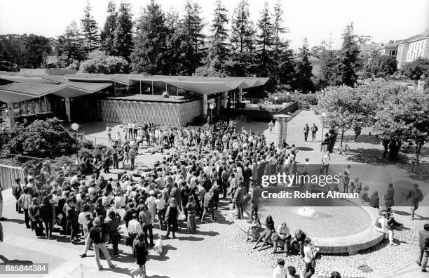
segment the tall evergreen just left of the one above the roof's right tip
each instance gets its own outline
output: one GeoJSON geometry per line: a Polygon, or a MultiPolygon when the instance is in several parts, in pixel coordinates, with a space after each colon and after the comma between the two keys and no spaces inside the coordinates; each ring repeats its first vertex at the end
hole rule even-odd
{"type": "Polygon", "coordinates": [[[228,65],[230,76],[245,77],[250,74],[254,58],[254,34],[249,2],[240,0],[234,9],[231,24],[231,59],[228,65]]]}

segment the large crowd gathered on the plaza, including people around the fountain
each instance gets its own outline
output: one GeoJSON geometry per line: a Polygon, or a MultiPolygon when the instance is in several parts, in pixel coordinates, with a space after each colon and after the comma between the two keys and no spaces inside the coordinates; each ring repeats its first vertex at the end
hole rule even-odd
{"type": "MultiPolygon", "coordinates": [[[[304,132],[310,130],[317,132],[317,126],[304,132]]],[[[306,233],[297,230],[292,236],[285,222],[275,230],[271,216],[266,218],[263,228],[258,216],[262,176],[282,171],[295,173],[297,147],[289,147],[285,141],[278,146],[267,144],[264,134],[245,128],[237,130],[233,121],[189,128],[124,124],[123,133],[124,140],[120,132],[111,135],[111,127],[107,126],[111,147],[103,148],[95,157],[79,157],[81,171],[93,169],[89,179],[78,176],[68,164],[55,171],[49,159],[24,168],[25,180],[16,180],[13,194],[17,199],[16,211],[24,213],[27,228],[47,239],[52,239],[56,230],[67,235],[73,244],[83,243],[82,258],[92,246],[97,265],[102,269],[103,257],[109,267],[115,266],[111,256],[118,256],[118,243],[124,238],[119,230],[125,223],[125,244],[132,246],[137,263],[132,275],[144,275],[148,249],[156,245],[154,227],[160,233],[165,232],[158,239],[167,240],[170,235],[175,238],[183,219],[187,232],[198,233],[197,220],[200,224],[207,219],[215,221],[214,211],[219,199],[224,199],[236,209],[238,219],[244,217],[244,207],[250,206],[247,237],[256,241],[254,249],[262,242],[259,250],[273,244],[273,253],[278,252],[278,247],[283,248],[285,256],[297,252],[304,258],[306,277],[315,273],[318,249],[306,233]],[[132,170],[141,145],[165,155],[136,177],[132,170]],[[111,167],[131,171],[127,170],[118,180],[104,178],[102,171],[109,173],[111,167]],[[106,242],[112,246],[111,253],[106,242]]],[[[314,140],[315,134],[312,135],[314,140]]],[[[327,151],[322,158],[322,171],[328,171],[329,159],[327,151]]],[[[308,159],[305,160],[308,170],[308,159]]],[[[362,187],[357,177],[350,179],[350,174],[347,166],[342,176],[343,191],[363,192],[362,200],[379,206],[379,201],[367,196],[368,187],[362,187]]],[[[400,223],[391,216],[393,204],[389,201],[394,193],[389,190],[390,186],[388,197],[385,196],[386,209],[381,210],[381,218],[375,225],[394,244],[390,231],[400,223]]],[[[415,196],[419,196],[417,191],[410,192],[413,201],[415,196]]],[[[418,202],[414,211],[417,207],[418,202]]],[[[288,267],[288,272],[294,277],[292,268],[288,267]]]]}

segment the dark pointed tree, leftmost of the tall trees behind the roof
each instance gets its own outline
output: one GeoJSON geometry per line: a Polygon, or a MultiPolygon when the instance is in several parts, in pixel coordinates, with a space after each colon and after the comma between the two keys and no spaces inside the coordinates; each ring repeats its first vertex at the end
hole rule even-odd
{"type": "Polygon", "coordinates": [[[57,58],[62,67],[67,67],[74,60],[81,61],[86,57],[82,38],[76,22],[72,21],[60,37],[56,47],[57,58]]]}

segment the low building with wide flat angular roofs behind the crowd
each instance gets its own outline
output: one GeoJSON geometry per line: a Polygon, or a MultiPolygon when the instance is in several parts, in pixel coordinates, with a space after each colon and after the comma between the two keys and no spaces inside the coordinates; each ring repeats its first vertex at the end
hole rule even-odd
{"type": "Polygon", "coordinates": [[[0,72],[0,102],[15,117],[53,112],[67,121],[135,121],[186,126],[243,100],[267,77],[145,76],[74,72],[0,72]]]}

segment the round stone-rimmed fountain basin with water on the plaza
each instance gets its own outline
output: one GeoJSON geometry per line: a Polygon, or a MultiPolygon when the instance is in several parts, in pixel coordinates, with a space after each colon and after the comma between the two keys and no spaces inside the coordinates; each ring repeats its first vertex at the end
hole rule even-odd
{"type": "Polygon", "coordinates": [[[298,229],[306,232],[320,253],[350,253],[378,244],[383,234],[376,232],[377,209],[360,206],[355,199],[341,199],[342,206],[261,206],[264,223],[271,215],[275,229],[285,221],[292,236],[298,229]]]}

